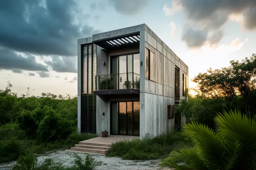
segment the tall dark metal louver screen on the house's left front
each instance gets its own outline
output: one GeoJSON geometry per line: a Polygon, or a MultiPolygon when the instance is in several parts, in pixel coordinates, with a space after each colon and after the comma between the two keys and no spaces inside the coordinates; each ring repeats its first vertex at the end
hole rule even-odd
{"type": "Polygon", "coordinates": [[[81,133],[97,133],[96,90],[97,46],[81,45],[81,133]]]}

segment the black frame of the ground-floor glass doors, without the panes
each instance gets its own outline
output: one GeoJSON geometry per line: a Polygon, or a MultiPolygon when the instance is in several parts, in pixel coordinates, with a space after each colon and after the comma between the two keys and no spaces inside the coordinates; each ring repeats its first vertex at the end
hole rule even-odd
{"type": "MultiPolygon", "coordinates": [[[[126,134],[125,136],[139,136],[139,135],[134,135],[134,102],[139,102],[139,100],[133,100],[133,101],[112,101],[110,102],[110,124],[112,125],[112,103],[117,103],[117,110],[118,110],[118,119],[117,119],[117,125],[118,125],[118,134],[113,134],[112,133],[112,126],[110,125],[110,135],[124,135],[124,134],[120,134],[120,122],[119,122],[119,115],[120,115],[120,112],[119,112],[119,102],[125,102],[126,103],[126,113],[125,113],[125,121],[126,121],[126,134]],[[132,102],[132,135],[128,135],[128,123],[127,123],[127,102],[132,102]]],[[[140,123],[140,121],[139,121],[140,123]]]]}

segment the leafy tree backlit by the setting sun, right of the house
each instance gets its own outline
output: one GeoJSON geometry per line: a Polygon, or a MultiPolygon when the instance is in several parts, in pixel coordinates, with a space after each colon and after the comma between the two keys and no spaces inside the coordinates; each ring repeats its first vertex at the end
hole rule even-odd
{"type": "Polygon", "coordinates": [[[251,116],[255,114],[256,103],[256,55],[245,58],[241,62],[230,61],[231,66],[221,69],[207,70],[199,73],[192,81],[197,83],[198,96],[225,97],[230,109],[235,103],[239,107],[237,98],[245,100],[245,112],[251,116]]]}

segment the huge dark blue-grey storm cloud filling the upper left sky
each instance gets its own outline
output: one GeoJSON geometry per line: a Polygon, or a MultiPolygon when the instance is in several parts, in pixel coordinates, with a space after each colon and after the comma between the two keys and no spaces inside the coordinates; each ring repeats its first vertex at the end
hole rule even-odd
{"type": "Polygon", "coordinates": [[[46,0],[45,7],[42,2],[0,1],[1,46],[39,55],[75,56],[80,28],[84,26],[84,35],[91,35],[94,28],[73,23],[77,14],[82,15],[74,0],[46,0]]]}

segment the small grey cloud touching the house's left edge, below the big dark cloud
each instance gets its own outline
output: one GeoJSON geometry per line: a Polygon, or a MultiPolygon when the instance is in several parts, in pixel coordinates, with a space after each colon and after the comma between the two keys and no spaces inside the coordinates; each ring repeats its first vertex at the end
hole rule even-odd
{"type": "Polygon", "coordinates": [[[52,61],[45,61],[56,72],[77,73],[75,57],[58,57],[53,56],[52,61]]]}

